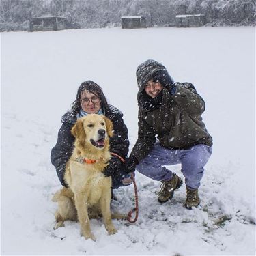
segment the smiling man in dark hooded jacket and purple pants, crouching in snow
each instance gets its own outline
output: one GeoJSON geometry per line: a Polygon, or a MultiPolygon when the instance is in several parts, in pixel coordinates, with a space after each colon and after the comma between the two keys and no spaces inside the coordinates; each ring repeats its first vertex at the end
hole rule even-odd
{"type": "Polygon", "coordinates": [[[205,102],[191,83],[174,83],[165,66],[152,59],[139,65],[136,75],[139,130],[126,171],[137,169],[160,181],[158,201],[164,203],[182,186],[182,179],[165,165],[181,164],[185,206],[197,206],[204,166],[212,154],[212,137],[201,117],[205,102]]]}

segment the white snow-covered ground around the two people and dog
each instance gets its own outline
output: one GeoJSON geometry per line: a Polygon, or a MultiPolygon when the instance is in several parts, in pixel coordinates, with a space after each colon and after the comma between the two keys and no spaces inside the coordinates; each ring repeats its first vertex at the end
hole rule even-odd
{"type": "MultiPolygon", "coordinates": [[[[180,166],[171,167],[178,175],[180,166]]],[[[128,212],[132,186],[112,207],[128,212]]],[[[81,29],[1,33],[1,255],[255,255],[255,28],[81,29]],[[61,188],[50,152],[60,117],[86,80],[102,86],[124,113],[130,149],[137,139],[135,70],[163,63],[175,81],[193,83],[206,102],[214,138],[199,194],[184,208],[185,186],[160,204],[159,182],[137,173],[139,219],[114,221],[108,236],[91,221],[53,230],[61,188]]]]}

